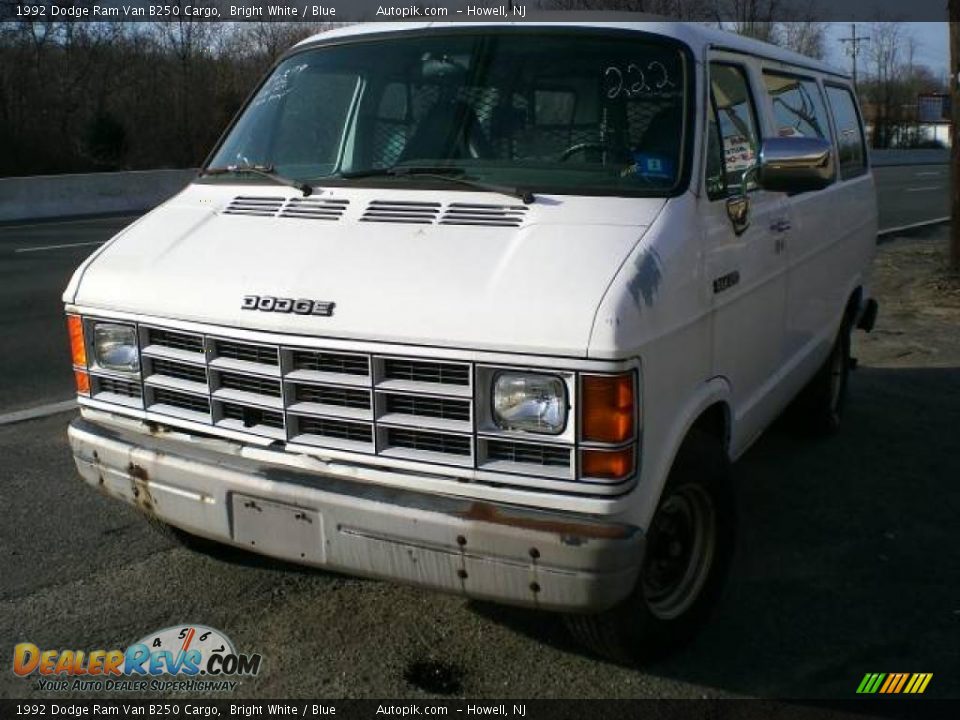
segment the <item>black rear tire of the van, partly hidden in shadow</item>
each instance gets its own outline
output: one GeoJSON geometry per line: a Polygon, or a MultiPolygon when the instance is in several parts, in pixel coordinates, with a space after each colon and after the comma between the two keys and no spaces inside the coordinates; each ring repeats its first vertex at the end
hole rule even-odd
{"type": "Polygon", "coordinates": [[[849,317],[844,318],[830,355],[797,396],[794,404],[797,424],[813,435],[832,435],[840,429],[852,367],[851,325],[849,317]]]}

